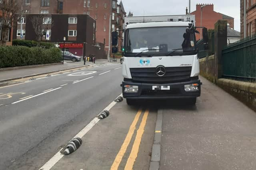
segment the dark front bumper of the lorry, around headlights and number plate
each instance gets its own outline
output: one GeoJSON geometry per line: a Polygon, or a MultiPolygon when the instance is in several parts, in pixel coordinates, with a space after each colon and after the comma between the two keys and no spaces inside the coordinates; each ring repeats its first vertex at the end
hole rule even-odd
{"type": "Polygon", "coordinates": [[[152,83],[134,83],[131,81],[123,81],[122,92],[126,99],[171,99],[171,98],[195,98],[201,95],[200,80],[191,80],[188,82],[168,83],[168,84],[152,84],[152,83]],[[197,92],[186,92],[184,85],[199,84],[197,92]],[[124,92],[124,85],[138,86],[137,93],[124,92]],[[152,86],[170,86],[170,90],[152,90],[152,86]]]}

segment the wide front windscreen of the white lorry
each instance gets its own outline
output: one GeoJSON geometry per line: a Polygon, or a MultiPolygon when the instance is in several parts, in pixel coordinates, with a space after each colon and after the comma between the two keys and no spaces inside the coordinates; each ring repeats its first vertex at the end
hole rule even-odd
{"type": "Polygon", "coordinates": [[[188,55],[195,53],[195,35],[187,27],[147,27],[126,30],[125,53],[140,55],[188,55]]]}

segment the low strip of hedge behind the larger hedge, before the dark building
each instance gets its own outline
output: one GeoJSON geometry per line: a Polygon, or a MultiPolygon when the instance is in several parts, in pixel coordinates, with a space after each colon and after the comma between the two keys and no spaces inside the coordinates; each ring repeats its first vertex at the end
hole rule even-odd
{"type": "Polygon", "coordinates": [[[55,47],[53,43],[48,42],[40,42],[38,45],[38,42],[36,41],[30,41],[30,40],[24,40],[24,39],[14,39],[12,40],[12,45],[20,45],[20,46],[26,46],[26,47],[41,47],[45,49],[50,49],[52,47],[55,47]]]}

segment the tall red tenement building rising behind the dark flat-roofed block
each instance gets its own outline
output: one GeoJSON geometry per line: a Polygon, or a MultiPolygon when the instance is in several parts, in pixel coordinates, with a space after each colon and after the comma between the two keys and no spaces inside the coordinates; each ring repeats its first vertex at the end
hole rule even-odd
{"type": "MultiPolygon", "coordinates": [[[[122,29],[126,12],[117,0],[18,0],[29,14],[88,14],[96,20],[95,40],[105,43],[108,53],[109,32],[122,29]],[[111,23],[110,23],[111,19],[111,23]],[[110,30],[112,29],[112,30],[110,30]]],[[[19,27],[19,25],[18,25],[19,27]]],[[[16,33],[15,33],[16,34],[16,33]]],[[[122,31],[119,33],[119,50],[122,46],[122,31]]],[[[110,36],[111,37],[111,36],[110,36]]],[[[111,42],[111,41],[110,41],[111,42]]],[[[111,48],[110,48],[111,49],[111,48]]]]}

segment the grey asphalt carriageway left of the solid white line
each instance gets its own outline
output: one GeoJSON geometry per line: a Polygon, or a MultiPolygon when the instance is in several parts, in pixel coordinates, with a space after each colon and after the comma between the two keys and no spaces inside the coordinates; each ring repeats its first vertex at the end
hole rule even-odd
{"type": "Polygon", "coordinates": [[[120,66],[94,65],[0,88],[0,169],[40,168],[121,94],[120,66]]]}

